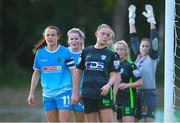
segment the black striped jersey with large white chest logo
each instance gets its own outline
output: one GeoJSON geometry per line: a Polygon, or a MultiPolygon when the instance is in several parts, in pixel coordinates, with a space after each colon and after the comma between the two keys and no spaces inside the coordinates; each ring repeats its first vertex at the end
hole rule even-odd
{"type": "Polygon", "coordinates": [[[118,72],[119,65],[118,54],[107,47],[83,49],[77,65],[78,69],[84,70],[82,98],[100,98],[102,86],[109,81],[109,73],[118,72]]]}

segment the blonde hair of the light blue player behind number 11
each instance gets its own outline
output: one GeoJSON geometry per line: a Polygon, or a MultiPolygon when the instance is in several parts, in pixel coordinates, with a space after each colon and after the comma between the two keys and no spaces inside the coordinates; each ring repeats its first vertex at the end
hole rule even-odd
{"type": "Polygon", "coordinates": [[[83,40],[83,42],[81,43],[81,49],[84,48],[84,41],[85,41],[85,35],[84,33],[79,29],[79,28],[72,28],[67,32],[67,35],[69,36],[70,33],[77,33],[80,37],[80,39],[83,40]]]}

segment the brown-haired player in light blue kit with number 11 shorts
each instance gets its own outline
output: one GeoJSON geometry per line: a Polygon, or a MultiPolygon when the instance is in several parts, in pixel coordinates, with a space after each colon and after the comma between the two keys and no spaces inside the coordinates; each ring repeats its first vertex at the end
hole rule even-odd
{"type": "Polygon", "coordinates": [[[41,80],[43,91],[44,111],[48,122],[69,122],[72,105],[77,103],[79,83],[76,80],[75,63],[70,52],[62,45],[58,45],[59,29],[48,26],[33,49],[36,51],[34,72],[31,79],[31,88],[28,104],[35,105],[35,89],[41,80]],[[44,42],[46,46],[39,48],[44,42]],[[72,74],[73,86],[69,71],[72,74]]]}

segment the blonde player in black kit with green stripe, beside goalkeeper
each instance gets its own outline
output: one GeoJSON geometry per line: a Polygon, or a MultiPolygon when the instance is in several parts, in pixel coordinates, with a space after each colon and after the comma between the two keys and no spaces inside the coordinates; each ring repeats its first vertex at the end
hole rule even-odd
{"type": "Polygon", "coordinates": [[[116,94],[117,119],[123,122],[134,122],[136,87],[142,86],[140,73],[130,60],[129,48],[124,40],[114,44],[119,54],[121,82],[116,94]]]}

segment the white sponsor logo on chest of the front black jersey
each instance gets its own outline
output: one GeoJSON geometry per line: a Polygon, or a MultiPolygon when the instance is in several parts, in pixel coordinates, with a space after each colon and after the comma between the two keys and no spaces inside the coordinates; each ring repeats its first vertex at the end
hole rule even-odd
{"type": "Polygon", "coordinates": [[[85,63],[86,70],[98,70],[103,71],[104,63],[102,62],[95,62],[95,61],[87,61],[85,63]]]}

